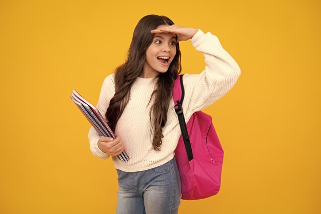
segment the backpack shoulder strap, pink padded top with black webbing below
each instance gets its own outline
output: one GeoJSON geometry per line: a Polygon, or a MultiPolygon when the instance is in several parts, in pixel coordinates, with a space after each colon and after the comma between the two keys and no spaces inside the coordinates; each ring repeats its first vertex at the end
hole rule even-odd
{"type": "Polygon", "coordinates": [[[174,108],[175,112],[178,116],[180,131],[182,131],[182,136],[185,144],[185,149],[188,157],[188,161],[193,159],[193,152],[191,147],[191,142],[189,139],[189,135],[186,128],[186,122],[183,114],[182,104],[184,101],[184,85],[183,85],[183,75],[177,75],[176,80],[174,81],[174,88],[173,88],[173,100],[174,100],[174,108]]]}

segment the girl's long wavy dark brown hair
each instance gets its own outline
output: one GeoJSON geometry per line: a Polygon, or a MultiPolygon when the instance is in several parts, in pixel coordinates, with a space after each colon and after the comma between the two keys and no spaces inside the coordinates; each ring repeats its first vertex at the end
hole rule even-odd
{"type": "MultiPolygon", "coordinates": [[[[127,59],[124,64],[119,65],[115,69],[115,94],[110,100],[109,107],[106,111],[106,119],[110,128],[115,131],[118,119],[123,114],[123,111],[130,99],[130,89],[135,79],[141,72],[146,60],[146,50],[151,45],[154,34],[150,31],[156,29],[159,25],[173,25],[174,23],[163,15],[147,15],[139,20],[136,25],[132,37],[132,41],[127,51],[127,59]]],[[[177,41],[177,36],[176,36],[177,41]]],[[[154,103],[150,108],[149,116],[151,121],[151,113],[154,116],[154,133],[153,134],[153,149],[160,150],[162,145],[163,127],[167,121],[167,111],[169,102],[172,102],[174,80],[182,70],[180,65],[180,50],[179,44],[176,42],[176,55],[171,62],[168,70],[165,73],[159,73],[157,83],[153,91],[149,103],[154,96],[154,103]]]]}

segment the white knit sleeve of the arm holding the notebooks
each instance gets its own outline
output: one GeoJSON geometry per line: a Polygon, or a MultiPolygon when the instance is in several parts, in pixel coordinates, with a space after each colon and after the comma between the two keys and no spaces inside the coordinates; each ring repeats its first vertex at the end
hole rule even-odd
{"type": "MultiPolygon", "coordinates": [[[[101,112],[105,120],[106,120],[105,113],[109,106],[109,101],[111,100],[111,98],[115,93],[115,85],[112,77],[113,77],[113,74],[110,74],[105,78],[101,88],[101,93],[99,94],[98,103],[96,105],[96,108],[98,109],[99,112],[101,112]]],[[[98,140],[100,138],[100,135],[92,126],[89,129],[88,138],[89,138],[90,150],[92,154],[95,157],[101,158],[102,160],[108,159],[110,155],[103,152],[98,147],[98,140]]]]}

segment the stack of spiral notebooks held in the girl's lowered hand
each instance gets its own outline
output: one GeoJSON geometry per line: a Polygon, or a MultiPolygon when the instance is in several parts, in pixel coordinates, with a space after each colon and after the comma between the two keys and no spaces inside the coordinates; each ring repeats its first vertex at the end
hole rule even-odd
{"type": "MultiPolygon", "coordinates": [[[[79,108],[79,110],[81,110],[81,112],[86,116],[87,120],[98,133],[104,135],[105,137],[116,139],[106,120],[94,105],[85,100],[76,90],[72,90],[70,98],[79,108]]],[[[118,158],[125,162],[128,162],[129,160],[125,150],[118,154],[118,158]]]]}

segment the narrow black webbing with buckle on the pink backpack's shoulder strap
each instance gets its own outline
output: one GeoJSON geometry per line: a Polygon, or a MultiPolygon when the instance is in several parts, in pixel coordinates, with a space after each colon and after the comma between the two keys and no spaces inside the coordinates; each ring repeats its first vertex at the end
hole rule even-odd
{"type": "Polygon", "coordinates": [[[185,122],[183,108],[182,108],[182,104],[184,101],[184,95],[185,95],[184,85],[183,85],[183,75],[184,74],[179,75],[180,76],[180,87],[182,88],[182,97],[180,98],[180,101],[176,102],[177,104],[175,105],[175,107],[177,106],[177,108],[175,108],[175,112],[177,113],[180,130],[182,131],[188,161],[191,161],[193,159],[193,152],[192,152],[191,142],[190,142],[189,135],[187,132],[186,122],[185,122]]]}

